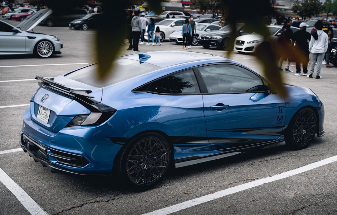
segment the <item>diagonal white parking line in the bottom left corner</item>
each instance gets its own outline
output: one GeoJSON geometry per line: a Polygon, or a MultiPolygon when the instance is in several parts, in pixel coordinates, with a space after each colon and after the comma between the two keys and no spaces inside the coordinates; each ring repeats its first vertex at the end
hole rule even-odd
{"type": "Polygon", "coordinates": [[[31,214],[47,215],[43,209],[32,199],[28,194],[15,183],[1,168],[0,168],[0,181],[11,191],[19,202],[31,214]]]}

